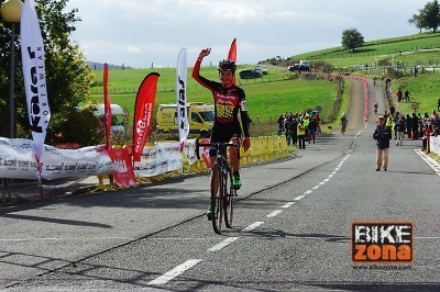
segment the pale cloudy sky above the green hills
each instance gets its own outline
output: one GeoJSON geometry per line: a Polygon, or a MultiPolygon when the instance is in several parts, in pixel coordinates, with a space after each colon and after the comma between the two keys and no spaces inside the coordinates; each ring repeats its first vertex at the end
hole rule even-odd
{"type": "Polygon", "coordinates": [[[237,37],[238,64],[341,45],[356,29],[364,41],[417,34],[408,20],[428,0],[69,0],[78,9],[72,40],[89,61],[134,68],[188,66],[210,47],[205,64],[227,58],[237,37]]]}

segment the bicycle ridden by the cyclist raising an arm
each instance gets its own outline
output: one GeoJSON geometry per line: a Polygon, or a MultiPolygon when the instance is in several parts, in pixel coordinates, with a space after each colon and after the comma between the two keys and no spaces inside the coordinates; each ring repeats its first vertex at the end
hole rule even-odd
{"type": "Polygon", "coordinates": [[[221,234],[223,218],[227,228],[232,228],[233,203],[237,190],[232,188],[232,170],[227,160],[228,147],[237,147],[238,158],[240,159],[239,143],[199,143],[196,139],[196,156],[200,159],[200,147],[216,149],[217,158],[211,166],[211,221],[212,228],[217,234],[221,234]]]}

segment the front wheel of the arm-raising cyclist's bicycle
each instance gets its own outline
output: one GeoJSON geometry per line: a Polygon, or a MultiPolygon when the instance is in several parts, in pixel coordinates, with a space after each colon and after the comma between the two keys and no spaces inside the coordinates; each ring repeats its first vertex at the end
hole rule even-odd
{"type": "Polygon", "coordinates": [[[211,175],[211,212],[212,228],[215,233],[221,234],[221,224],[223,221],[223,181],[220,166],[216,162],[211,175]]]}

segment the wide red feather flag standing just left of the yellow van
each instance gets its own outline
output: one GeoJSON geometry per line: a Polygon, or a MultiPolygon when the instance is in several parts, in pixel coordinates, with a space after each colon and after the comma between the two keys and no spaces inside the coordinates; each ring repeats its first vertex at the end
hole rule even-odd
{"type": "Polygon", "coordinates": [[[141,161],[142,150],[150,134],[160,76],[157,72],[148,74],[138,91],[133,121],[133,161],[141,161]]]}

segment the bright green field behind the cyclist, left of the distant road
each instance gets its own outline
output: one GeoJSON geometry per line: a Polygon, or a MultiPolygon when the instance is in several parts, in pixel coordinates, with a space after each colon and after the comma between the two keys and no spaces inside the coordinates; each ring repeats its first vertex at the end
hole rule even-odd
{"type": "MultiPolygon", "coordinates": [[[[242,66],[244,67],[244,66],[242,66]]],[[[252,66],[245,66],[252,67],[252,66]]],[[[175,69],[125,69],[110,71],[110,92],[114,88],[135,88],[151,71],[161,74],[158,79],[155,108],[163,103],[175,103],[175,69]]],[[[201,74],[209,79],[218,80],[216,67],[204,67],[201,74]]],[[[101,91],[102,71],[96,72],[96,89],[101,91]],[[99,78],[101,76],[101,78],[99,78]]],[[[317,79],[308,80],[295,74],[280,69],[271,69],[264,78],[238,79],[238,85],[246,93],[248,109],[254,123],[274,122],[284,112],[304,112],[307,109],[315,109],[320,105],[322,109],[331,109],[337,96],[334,80],[317,79]]],[[[117,91],[118,92],[118,91],[117,91]]],[[[111,93],[112,103],[127,108],[130,113],[134,111],[135,93],[111,93]]],[[[212,96],[209,90],[199,86],[190,77],[188,71],[187,87],[188,102],[212,103],[212,96]]],[[[102,93],[92,94],[92,100],[102,101],[102,93]]],[[[328,119],[329,112],[323,112],[322,117],[328,119]]],[[[131,121],[132,122],[132,121],[131,121]]]]}

